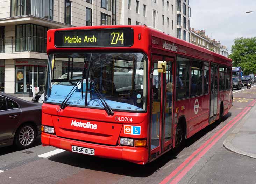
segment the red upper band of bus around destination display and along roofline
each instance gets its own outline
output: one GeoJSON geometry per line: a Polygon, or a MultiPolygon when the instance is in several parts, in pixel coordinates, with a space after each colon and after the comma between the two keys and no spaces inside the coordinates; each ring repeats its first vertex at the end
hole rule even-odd
{"type": "MultiPolygon", "coordinates": [[[[85,35],[85,34],[84,34],[85,35]]],[[[73,38],[74,34],[69,38],[73,38]],[[72,36],[72,37],[71,37],[72,36]]],[[[65,37],[67,38],[67,37],[65,37]]],[[[79,37],[76,37],[77,39],[79,37]]],[[[117,38],[117,37],[115,37],[117,38]]],[[[59,40],[59,39],[58,39],[59,40]]],[[[63,38],[64,40],[64,38],[63,38]]],[[[84,38],[81,38],[81,40],[84,40],[84,38]]],[[[113,39],[114,40],[114,39],[113,39]]],[[[113,42],[112,40],[112,42],[113,42]]],[[[101,41],[101,40],[100,40],[101,41]]],[[[99,42],[100,42],[99,41],[99,42]]],[[[111,40],[109,39],[109,42],[111,40]]],[[[115,41],[115,40],[114,40],[115,41]]],[[[73,43],[72,43],[73,44],[73,43]]],[[[73,44],[74,45],[74,44],[73,44]]],[[[223,63],[226,65],[231,66],[232,65],[232,59],[226,58],[225,56],[222,56],[218,53],[212,52],[208,49],[205,49],[203,47],[194,45],[192,43],[189,43],[187,41],[181,40],[179,38],[173,37],[171,35],[168,35],[166,33],[163,33],[155,28],[151,28],[148,26],[144,25],[109,25],[109,26],[84,26],[84,27],[73,27],[73,28],[61,28],[61,29],[51,29],[48,30],[47,32],[47,53],[51,52],[58,52],[58,51],[71,51],[76,52],[78,51],[85,51],[85,50],[90,50],[90,51],[95,51],[95,50],[111,50],[113,51],[113,47],[115,51],[124,51],[124,50],[134,50],[134,51],[143,51],[147,53],[148,55],[150,54],[150,49],[153,51],[154,49],[162,50],[164,53],[168,51],[168,53],[173,53],[173,54],[179,54],[179,55],[186,55],[186,56],[191,56],[195,57],[198,59],[205,59],[205,60],[210,60],[218,63],[223,63]],[[71,47],[56,47],[55,44],[55,32],[71,32],[71,31],[77,31],[81,32],[79,35],[83,35],[83,31],[90,31],[90,30],[110,30],[109,32],[109,38],[111,33],[113,33],[115,30],[122,30],[123,29],[128,29],[131,28],[133,30],[133,44],[130,46],[112,46],[109,43],[109,46],[71,46],[71,47]],[[111,32],[112,30],[112,32],[111,32]]]]}

